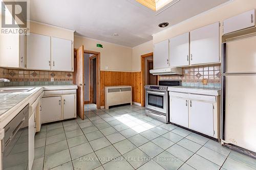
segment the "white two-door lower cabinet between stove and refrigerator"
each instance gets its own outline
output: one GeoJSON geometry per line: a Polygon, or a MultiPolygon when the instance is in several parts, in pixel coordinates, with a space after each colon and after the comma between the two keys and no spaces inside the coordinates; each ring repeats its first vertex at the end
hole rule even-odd
{"type": "Polygon", "coordinates": [[[170,122],[219,138],[216,96],[169,92],[170,122]]]}

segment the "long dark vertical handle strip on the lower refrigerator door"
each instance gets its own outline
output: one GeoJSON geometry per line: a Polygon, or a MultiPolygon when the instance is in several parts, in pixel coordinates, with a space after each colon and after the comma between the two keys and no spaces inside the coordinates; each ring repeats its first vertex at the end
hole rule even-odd
{"type": "Polygon", "coordinates": [[[221,139],[225,140],[225,110],[226,110],[226,77],[222,76],[221,83],[221,139]]]}

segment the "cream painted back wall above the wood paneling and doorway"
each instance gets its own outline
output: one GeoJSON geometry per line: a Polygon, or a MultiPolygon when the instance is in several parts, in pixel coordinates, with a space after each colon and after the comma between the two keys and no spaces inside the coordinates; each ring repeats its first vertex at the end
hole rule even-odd
{"type": "Polygon", "coordinates": [[[96,39],[74,36],[74,47],[84,45],[84,50],[100,52],[100,70],[132,71],[133,48],[96,39]],[[97,47],[100,43],[103,48],[97,47]]]}

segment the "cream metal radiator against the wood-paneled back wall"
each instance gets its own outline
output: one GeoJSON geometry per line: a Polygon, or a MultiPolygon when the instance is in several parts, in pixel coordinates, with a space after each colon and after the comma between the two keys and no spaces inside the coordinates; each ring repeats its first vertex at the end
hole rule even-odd
{"type": "Polygon", "coordinates": [[[126,103],[132,105],[132,86],[105,87],[105,109],[126,103]]]}

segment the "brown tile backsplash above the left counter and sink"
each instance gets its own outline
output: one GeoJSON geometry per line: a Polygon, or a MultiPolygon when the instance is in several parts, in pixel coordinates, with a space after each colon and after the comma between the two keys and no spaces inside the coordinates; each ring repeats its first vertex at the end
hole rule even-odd
{"type": "Polygon", "coordinates": [[[0,78],[11,82],[0,82],[0,86],[62,85],[73,84],[73,72],[17,70],[0,67],[0,78]],[[54,78],[54,82],[51,82],[54,78]]]}

